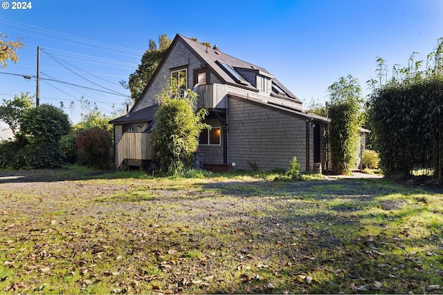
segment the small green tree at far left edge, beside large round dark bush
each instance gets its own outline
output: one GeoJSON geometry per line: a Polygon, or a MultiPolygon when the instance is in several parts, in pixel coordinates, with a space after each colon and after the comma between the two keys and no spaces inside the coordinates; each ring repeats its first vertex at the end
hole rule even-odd
{"type": "Polygon", "coordinates": [[[3,105],[0,106],[0,120],[9,125],[16,138],[24,113],[33,106],[34,102],[29,93],[21,93],[20,97],[15,95],[14,99],[3,99],[3,105]]]}

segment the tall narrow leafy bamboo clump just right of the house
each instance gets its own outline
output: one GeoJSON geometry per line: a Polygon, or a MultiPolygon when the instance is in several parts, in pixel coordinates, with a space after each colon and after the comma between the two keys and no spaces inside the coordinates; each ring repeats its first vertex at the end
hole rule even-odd
{"type": "Polygon", "coordinates": [[[349,174],[356,164],[361,127],[361,87],[351,75],[341,77],[328,88],[329,92],[329,141],[331,144],[332,170],[349,174]]]}

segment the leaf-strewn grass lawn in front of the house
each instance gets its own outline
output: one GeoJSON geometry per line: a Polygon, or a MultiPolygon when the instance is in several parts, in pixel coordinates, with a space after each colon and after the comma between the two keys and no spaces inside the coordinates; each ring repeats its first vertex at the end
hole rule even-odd
{"type": "Polygon", "coordinates": [[[442,188],[274,178],[0,173],[0,292],[443,292],[442,188]]]}

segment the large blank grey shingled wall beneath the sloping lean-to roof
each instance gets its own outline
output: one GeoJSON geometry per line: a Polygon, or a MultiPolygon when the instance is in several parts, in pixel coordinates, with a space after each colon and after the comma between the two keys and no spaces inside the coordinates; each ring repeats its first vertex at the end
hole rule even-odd
{"type": "Polygon", "coordinates": [[[294,155],[306,169],[306,122],[257,106],[246,100],[228,99],[228,163],[233,169],[287,169],[294,155]]]}

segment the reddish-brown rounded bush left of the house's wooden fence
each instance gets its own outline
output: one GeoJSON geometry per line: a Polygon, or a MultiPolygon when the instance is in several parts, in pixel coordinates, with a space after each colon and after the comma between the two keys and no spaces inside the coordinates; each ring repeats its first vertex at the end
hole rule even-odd
{"type": "Polygon", "coordinates": [[[95,169],[111,168],[112,137],[98,127],[84,129],[75,137],[78,148],[78,164],[95,169]]]}

